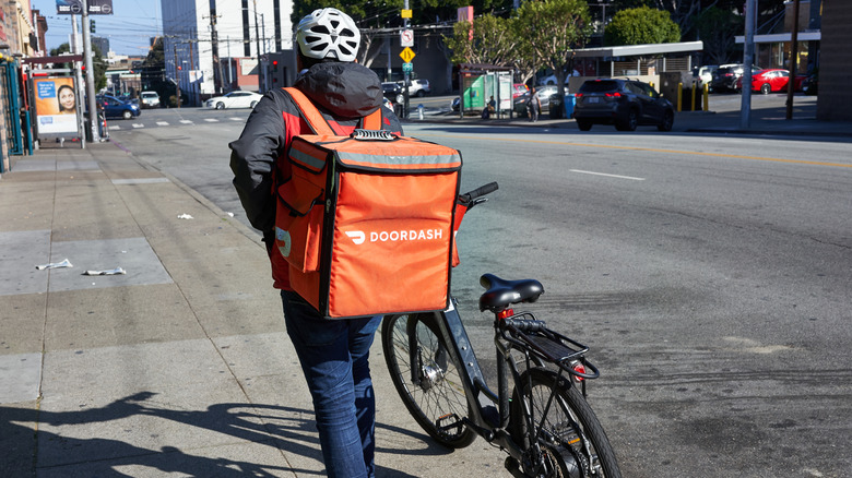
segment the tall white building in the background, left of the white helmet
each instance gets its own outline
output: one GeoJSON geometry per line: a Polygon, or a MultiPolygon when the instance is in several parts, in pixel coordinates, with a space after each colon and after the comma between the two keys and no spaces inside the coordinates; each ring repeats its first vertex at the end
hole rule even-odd
{"type": "Polygon", "coordinates": [[[270,55],[293,46],[292,11],[292,0],[162,2],[166,76],[191,105],[232,89],[265,92],[270,55]]]}

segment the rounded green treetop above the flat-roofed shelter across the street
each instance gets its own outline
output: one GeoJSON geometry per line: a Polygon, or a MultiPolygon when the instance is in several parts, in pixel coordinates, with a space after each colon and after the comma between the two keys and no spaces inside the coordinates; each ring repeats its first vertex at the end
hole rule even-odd
{"type": "Polygon", "coordinates": [[[622,10],[606,25],[604,45],[668,44],[681,40],[681,28],[668,12],[648,7],[622,10]]]}

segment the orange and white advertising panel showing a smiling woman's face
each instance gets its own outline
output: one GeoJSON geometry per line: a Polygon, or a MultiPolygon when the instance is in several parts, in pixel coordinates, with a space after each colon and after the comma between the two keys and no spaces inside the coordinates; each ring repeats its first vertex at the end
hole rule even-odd
{"type": "Polygon", "coordinates": [[[74,79],[34,79],[35,107],[39,134],[76,133],[74,79]]]}

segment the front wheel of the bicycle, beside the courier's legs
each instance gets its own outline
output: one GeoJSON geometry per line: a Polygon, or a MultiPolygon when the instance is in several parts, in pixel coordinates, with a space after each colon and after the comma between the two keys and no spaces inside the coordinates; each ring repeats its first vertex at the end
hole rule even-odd
{"type": "Polygon", "coordinates": [[[435,314],[386,315],[381,345],[393,386],[417,425],[443,446],[462,449],[473,443],[475,432],[461,421],[470,414],[464,386],[435,314]],[[419,368],[426,369],[423,384],[412,380],[412,338],[421,348],[424,366],[419,368]]]}

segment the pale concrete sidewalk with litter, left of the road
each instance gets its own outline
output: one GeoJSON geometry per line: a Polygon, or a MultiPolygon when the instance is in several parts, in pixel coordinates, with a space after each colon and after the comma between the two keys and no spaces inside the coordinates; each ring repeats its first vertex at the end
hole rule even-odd
{"type": "MultiPolygon", "coordinates": [[[[0,476],[322,475],[258,235],[111,143],[66,146],[0,180],[0,476]]],[[[378,475],[500,475],[483,440],[431,444],[379,342],[378,475]]]]}

